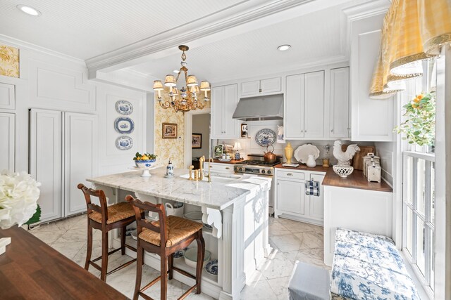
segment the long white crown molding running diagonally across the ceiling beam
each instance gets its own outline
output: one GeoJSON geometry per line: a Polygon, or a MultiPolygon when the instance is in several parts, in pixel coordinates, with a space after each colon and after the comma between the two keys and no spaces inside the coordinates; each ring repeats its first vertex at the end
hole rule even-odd
{"type": "MultiPolygon", "coordinates": [[[[118,70],[130,65],[142,63],[145,56],[164,51],[164,55],[171,55],[178,50],[175,46],[196,41],[202,37],[233,29],[248,22],[265,18],[276,13],[288,11],[292,8],[308,4],[313,0],[246,0],[235,6],[225,8],[223,11],[207,15],[202,19],[187,23],[180,27],[161,32],[147,39],[123,46],[108,53],[101,54],[86,60],[89,72],[95,70],[118,70]],[[257,4],[257,5],[256,5],[257,4]],[[172,51],[172,52],[171,52],[172,51]]],[[[327,1],[317,0],[324,6],[327,1]]],[[[339,2],[339,1],[338,1],[339,2]]],[[[330,4],[329,4],[330,5],[330,4]]],[[[312,5],[312,7],[314,7],[312,5]]],[[[316,5],[316,7],[320,7],[316,5]]],[[[295,18],[296,15],[292,15],[295,18]]],[[[278,20],[280,22],[280,20],[278,20]]]]}

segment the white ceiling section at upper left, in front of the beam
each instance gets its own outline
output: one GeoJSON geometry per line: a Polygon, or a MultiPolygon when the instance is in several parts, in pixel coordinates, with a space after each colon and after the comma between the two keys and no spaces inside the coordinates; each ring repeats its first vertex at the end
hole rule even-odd
{"type": "Polygon", "coordinates": [[[86,60],[240,2],[1,0],[0,34],[86,60]],[[42,15],[26,15],[16,8],[18,4],[32,6],[42,15]]]}

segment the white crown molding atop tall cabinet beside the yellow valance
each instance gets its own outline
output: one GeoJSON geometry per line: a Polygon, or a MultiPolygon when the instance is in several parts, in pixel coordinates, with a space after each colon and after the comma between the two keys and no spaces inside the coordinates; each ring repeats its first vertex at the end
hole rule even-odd
{"type": "Polygon", "coordinates": [[[365,4],[350,6],[342,10],[341,15],[341,34],[342,43],[341,50],[346,57],[350,57],[351,52],[351,24],[354,21],[371,18],[374,15],[385,14],[391,5],[390,0],[376,0],[365,4]]]}

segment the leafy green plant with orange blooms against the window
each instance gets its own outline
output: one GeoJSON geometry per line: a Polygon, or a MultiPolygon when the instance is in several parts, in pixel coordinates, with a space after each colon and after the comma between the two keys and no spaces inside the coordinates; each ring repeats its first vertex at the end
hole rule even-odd
{"type": "Polygon", "coordinates": [[[421,93],[403,106],[406,120],[396,126],[409,144],[433,145],[435,141],[435,93],[421,93]]]}

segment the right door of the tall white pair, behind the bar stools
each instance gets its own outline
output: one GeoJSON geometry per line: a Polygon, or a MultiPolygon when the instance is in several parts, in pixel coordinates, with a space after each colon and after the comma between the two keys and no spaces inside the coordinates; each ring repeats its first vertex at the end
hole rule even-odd
{"type": "Polygon", "coordinates": [[[97,116],[66,112],[64,115],[64,212],[86,211],[78,183],[97,175],[97,116]]]}

